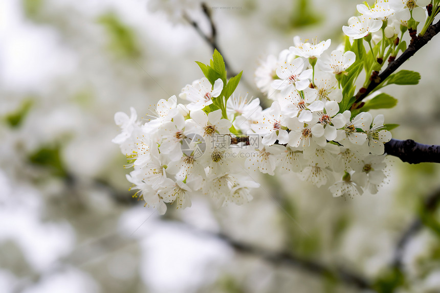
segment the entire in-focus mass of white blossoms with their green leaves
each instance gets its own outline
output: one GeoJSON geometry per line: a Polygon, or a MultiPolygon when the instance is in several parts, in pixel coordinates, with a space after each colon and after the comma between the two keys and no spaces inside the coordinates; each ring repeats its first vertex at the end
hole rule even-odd
{"type": "Polygon", "coordinates": [[[355,96],[357,80],[365,72],[361,92],[406,50],[404,34],[413,38],[423,21],[414,18],[418,12],[426,15],[420,34],[426,31],[438,13],[438,3],[435,9],[429,3],[358,5],[361,15],[342,28],[345,43],[335,50],[329,50],[330,39],[294,37],[294,46],[269,56],[255,72],[256,86],[273,100],[270,108],[235,93],[241,73],[228,80],[215,50],[209,64],[196,62],[204,77],[182,89],[179,98],[186,103],[176,96],[160,100],[146,123],[134,108],[130,116],[118,112],[115,121],[122,133],[113,141],[127,156],[127,167],[134,167],[127,179],[138,190],[135,196],[161,214],[165,203],[189,207],[195,193],[222,205],[243,204],[259,186],[255,173],[274,175],[275,169],[318,187],[327,184],[335,197],[376,193],[386,177],[384,143],[397,125],[384,124],[383,115],[372,117],[368,111],[397,103],[377,89],[416,84],[420,75],[392,74],[362,102],[355,96]]]}

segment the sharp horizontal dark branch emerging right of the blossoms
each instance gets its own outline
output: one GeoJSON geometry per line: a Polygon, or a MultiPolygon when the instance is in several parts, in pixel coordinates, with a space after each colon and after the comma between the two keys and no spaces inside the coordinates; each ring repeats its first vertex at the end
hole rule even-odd
{"type": "Polygon", "coordinates": [[[440,163],[440,146],[438,145],[425,145],[413,140],[391,139],[385,144],[385,152],[410,164],[440,163]]]}

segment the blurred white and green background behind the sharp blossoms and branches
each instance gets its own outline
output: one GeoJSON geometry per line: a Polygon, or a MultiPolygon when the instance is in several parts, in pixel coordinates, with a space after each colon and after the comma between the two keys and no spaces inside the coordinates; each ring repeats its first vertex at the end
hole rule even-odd
{"type": "MultiPolygon", "coordinates": [[[[264,98],[259,62],[295,35],[335,49],[358,3],[205,4],[244,70],[237,91],[264,98]]],[[[244,206],[199,197],[159,216],[131,198],[115,112],[146,114],[212,56],[183,11],[210,34],[195,0],[0,3],[0,292],[440,292],[435,164],[391,157],[380,192],[353,199],[281,173],[244,206]]],[[[382,111],[394,138],[440,144],[439,46],[403,65],[419,85],[384,89],[399,99],[382,111]]]]}

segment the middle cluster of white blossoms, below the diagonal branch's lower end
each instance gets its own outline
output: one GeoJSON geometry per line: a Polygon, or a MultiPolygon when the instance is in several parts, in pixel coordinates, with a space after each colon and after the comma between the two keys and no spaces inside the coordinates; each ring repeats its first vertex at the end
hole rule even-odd
{"type": "Polygon", "coordinates": [[[355,196],[362,189],[376,193],[385,179],[384,143],[391,139],[384,116],[373,119],[368,112],[360,112],[352,117],[339,107],[338,80],[355,62],[355,53],[339,47],[325,54],[330,40],[303,43],[295,37],[294,44],[289,54],[283,51],[272,62],[272,68],[266,63],[257,69],[259,88],[273,88],[272,106],[249,117],[246,127],[240,126],[245,125],[241,120],[233,122],[244,133],[261,136],[259,151],[274,158],[270,166],[252,165],[270,174],[279,165],[318,187],[339,178],[329,188],[334,196],[355,196]],[[268,74],[263,76],[263,71],[268,74]]]}

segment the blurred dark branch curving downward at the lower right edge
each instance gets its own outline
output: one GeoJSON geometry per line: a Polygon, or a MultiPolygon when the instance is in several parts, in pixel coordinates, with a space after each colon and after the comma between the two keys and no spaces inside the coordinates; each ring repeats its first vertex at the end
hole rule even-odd
{"type": "MultiPolygon", "coordinates": [[[[424,202],[424,212],[432,213],[440,202],[440,189],[433,192],[424,202]]],[[[394,250],[392,266],[402,270],[402,259],[405,247],[409,240],[423,228],[423,220],[420,217],[415,218],[409,227],[400,237],[394,250]]]]}

